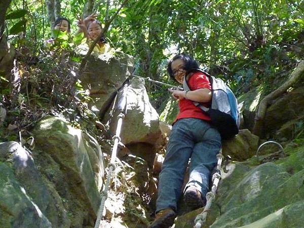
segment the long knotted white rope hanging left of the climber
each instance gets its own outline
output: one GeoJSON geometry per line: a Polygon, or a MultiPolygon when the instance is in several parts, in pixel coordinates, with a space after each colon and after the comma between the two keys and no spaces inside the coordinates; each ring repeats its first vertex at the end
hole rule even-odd
{"type": "Polygon", "coordinates": [[[116,155],[117,155],[117,148],[118,148],[118,144],[121,141],[120,134],[121,134],[122,124],[123,124],[123,119],[125,117],[124,113],[126,113],[126,109],[127,109],[127,88],[128,88],[128,82],[122,87],[122,89],[121,89],[122,96],[120,97],[119,102],[117,104],[117,109],[120,111],[120,113],[118,115],[116,133],[115,133],[115,136],[113,136],[114,145],[112,148],[111,160],[110,160],[110,163],[108,164],[108,169],[109,169],[108,177],[105,182],[104,190],[100,194],[101,200],[100,200],[100,205],[99,205],[99,209],[97,212],[97,219],[96,219],[95,226],[94,226],[95,228],[100,228],[100,222],[102,219],[104,203],[108,196],[108,190],[109,190],[109,186],[110,186],[110,183],[112,180],[113,171],[116,169],[115,161],[116,161],[116,155]]]}

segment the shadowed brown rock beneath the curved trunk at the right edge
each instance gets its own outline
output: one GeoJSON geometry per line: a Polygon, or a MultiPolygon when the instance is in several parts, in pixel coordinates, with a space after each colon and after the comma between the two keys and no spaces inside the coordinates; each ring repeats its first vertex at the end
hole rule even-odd
{"type": "Polygon", "coordinates": [[[297,133],[297,123],[304,120],[304,87],[285,94],[267,109],[264,130],[265,135],[277,135],[292,139],[297,133]]]}

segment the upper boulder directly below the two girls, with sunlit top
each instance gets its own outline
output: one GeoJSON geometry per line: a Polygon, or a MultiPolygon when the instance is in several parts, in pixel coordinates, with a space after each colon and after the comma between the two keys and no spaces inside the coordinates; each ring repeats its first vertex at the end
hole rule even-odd
{"type": "Polygon", "coordinates": [[[132,56],[122,52],[92,54],[80,78],[84,89],[88,89],[94,99],[89,105],[104,112],[132,73],[133,62],[132,56]]]}

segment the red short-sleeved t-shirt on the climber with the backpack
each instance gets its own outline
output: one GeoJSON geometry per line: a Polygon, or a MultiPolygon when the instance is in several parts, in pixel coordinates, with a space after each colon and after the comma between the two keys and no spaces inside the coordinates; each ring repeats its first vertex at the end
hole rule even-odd
{"type": "MultiPolygon", "coordinates": [[[[191,90],[197,89],[209,89],[211,90],[211,84],[209,78],[202,72],[195,72],[187,81],[188,87],[191,90]]],[[[209,107],[210,102],[202,103],[204,106],[209,107]]],[[[183,118],[197,118],[206,121],[210,121],[210,117],[202,111],[201,108],[194,105],[192,100],[181,99],[178,101],[179,113],[174,122],[183,118]]]]}

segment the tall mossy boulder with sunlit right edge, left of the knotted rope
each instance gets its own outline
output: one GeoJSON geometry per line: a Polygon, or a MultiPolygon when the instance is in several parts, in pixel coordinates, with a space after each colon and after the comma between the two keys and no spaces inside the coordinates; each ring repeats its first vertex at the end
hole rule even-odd
{"type": "Polygon", "coordinates": [[[104,161],[97,141],[67,121],[48,116],[32,131],[33,158],[70,213],[71,226],[94,226],[104,161]]]}

